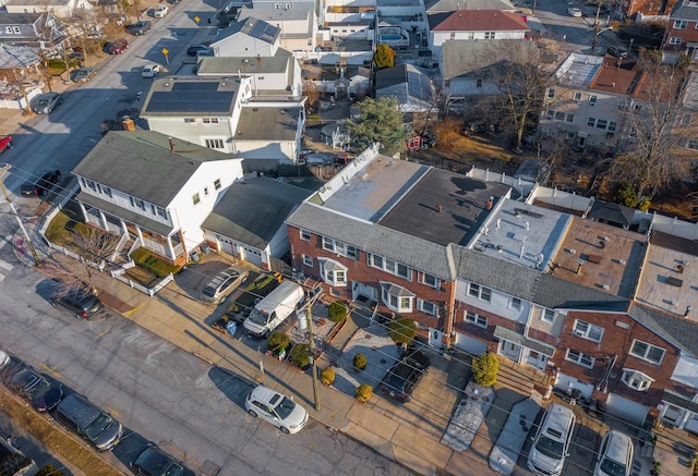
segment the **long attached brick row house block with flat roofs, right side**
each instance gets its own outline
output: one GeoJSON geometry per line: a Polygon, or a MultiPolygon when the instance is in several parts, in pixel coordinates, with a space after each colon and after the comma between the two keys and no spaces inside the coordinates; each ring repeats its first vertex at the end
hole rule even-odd
{"type": "Polygon", "coordinates": [[[337,298],[414,319],[434,346],[489,349],[634,423],[698,431],[690,288],[652,265],[698,253],[593,200],[582,218],[516,197],[369,150],[288,218],[292,266],[337,298]]]}

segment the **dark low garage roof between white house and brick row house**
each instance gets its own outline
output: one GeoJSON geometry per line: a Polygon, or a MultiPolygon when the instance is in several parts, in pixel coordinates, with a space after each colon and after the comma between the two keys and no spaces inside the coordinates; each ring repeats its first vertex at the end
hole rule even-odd
{"type": "Polygon", "coordinates": [[[286,217],[311,193],[266,178],[233,183],[202,228],[264,249],[286,217]]]}

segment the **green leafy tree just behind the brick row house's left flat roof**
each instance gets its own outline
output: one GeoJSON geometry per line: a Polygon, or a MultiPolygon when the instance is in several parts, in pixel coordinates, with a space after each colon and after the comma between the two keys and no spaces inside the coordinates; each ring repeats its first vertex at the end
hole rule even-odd
{"type": "Polygon", "coordinates": [[[383,152],[389,156],[405,150],[409,134],[405,130],[397,98],[382,98],[377,101],[366,98],[357,103],[357,107],[360,110],[359,118],[347,123],[357,150],[363,151],[374,143],[380,143],[383,152]]]}

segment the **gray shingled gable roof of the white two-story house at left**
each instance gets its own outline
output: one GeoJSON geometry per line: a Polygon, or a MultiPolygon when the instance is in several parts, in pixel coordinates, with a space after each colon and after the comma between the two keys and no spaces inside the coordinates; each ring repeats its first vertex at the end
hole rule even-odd
{"type": "Polygon", "coordinates": [[[152,131],[110,132],[73,173],[167,207],[202,162],[233,156],[152,131]]]}

